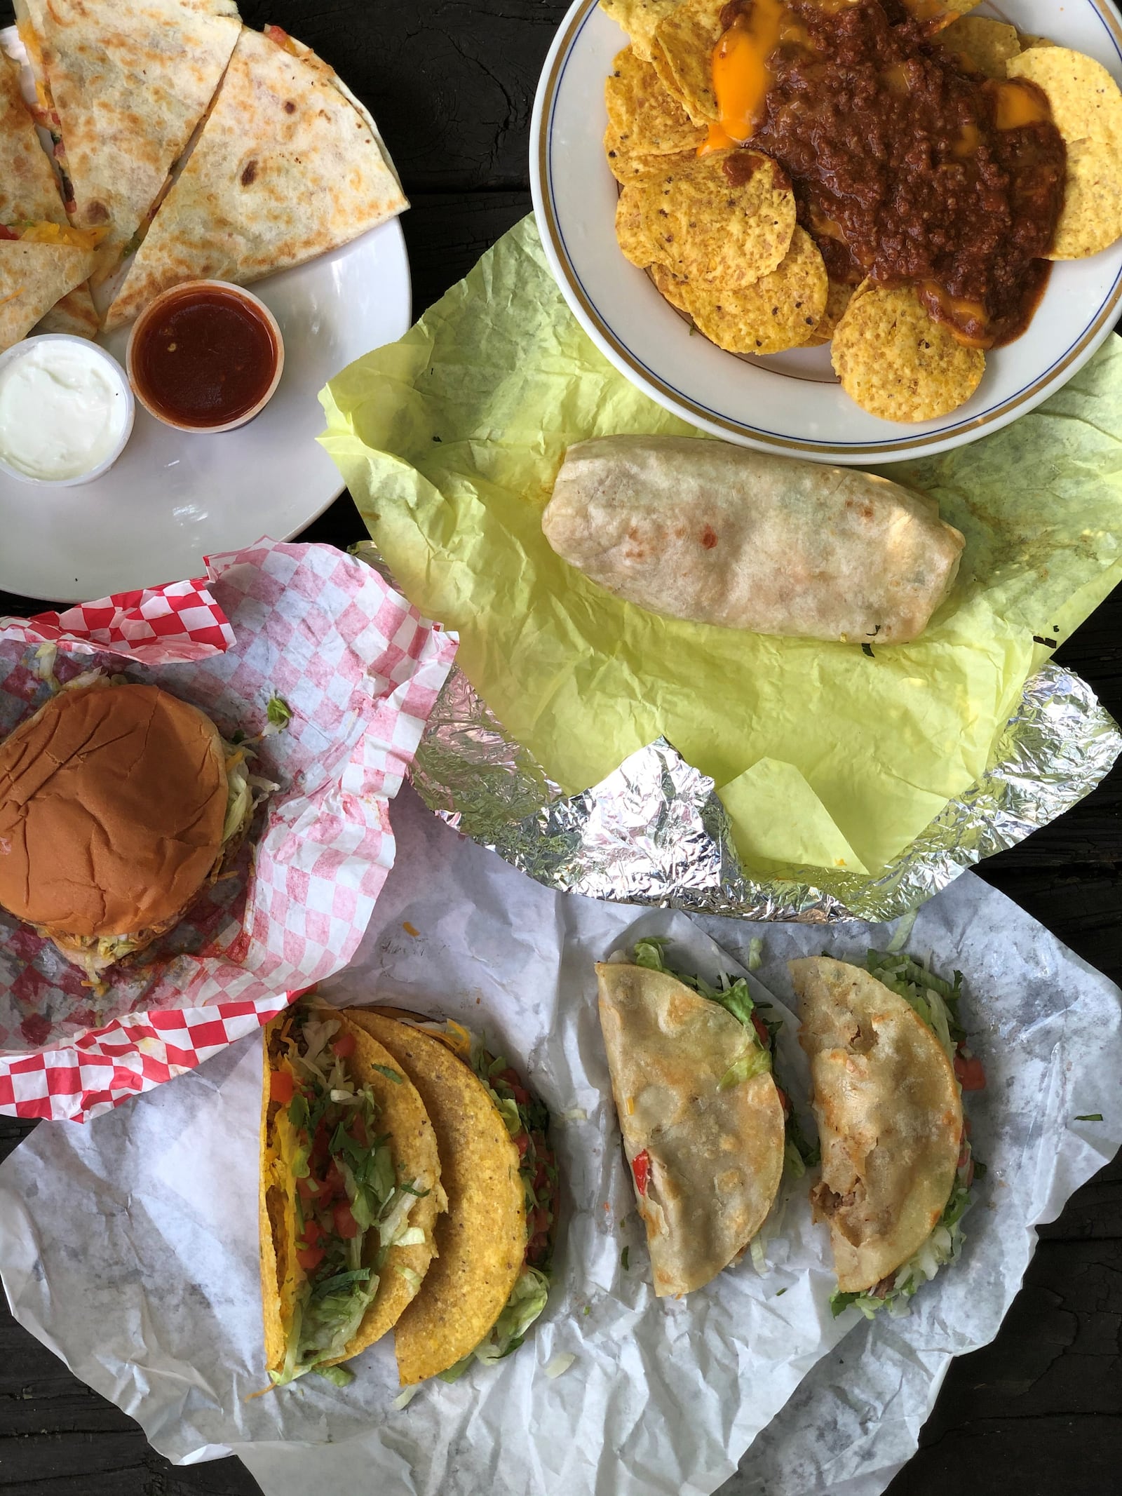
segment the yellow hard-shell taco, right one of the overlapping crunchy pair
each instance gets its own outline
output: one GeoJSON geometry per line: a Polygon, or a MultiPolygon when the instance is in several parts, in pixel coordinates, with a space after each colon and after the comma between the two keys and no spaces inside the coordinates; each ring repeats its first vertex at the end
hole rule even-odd
{"type": "Polygon", "coordinates": [[[458,1023],[347,1008],[408,1074],[432,1119],[447,1213],[437,1258],[396,1322],[402,1387],[510,1355],[546,1306],[557,1219],[549,1115],[458,1023]]]}

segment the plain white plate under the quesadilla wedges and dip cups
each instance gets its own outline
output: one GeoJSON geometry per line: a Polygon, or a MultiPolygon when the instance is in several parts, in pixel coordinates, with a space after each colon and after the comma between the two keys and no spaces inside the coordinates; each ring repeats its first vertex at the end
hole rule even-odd
{"type": "MultiPolygon", "coordinates": [[[[0,31],[12,48],[13,33],[0,31]]],[[[199,576],[203,555],[287,540],[343,492],[316,437],[319,392],[347,364],[408,331],[411,289],[393,218],[310,265],[256,281],[280,323],[284,373],[247,426],[187,435],[136,405],[105,477],[45,489],[0,474],[0,589],[58,601],[199,576]]],[[[129,328],[97,340],[124,367],[129,328]]]]}

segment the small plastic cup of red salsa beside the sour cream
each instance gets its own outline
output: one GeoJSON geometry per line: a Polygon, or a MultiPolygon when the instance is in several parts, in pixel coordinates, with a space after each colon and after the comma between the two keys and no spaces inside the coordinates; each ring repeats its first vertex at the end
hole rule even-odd
{"type": "Polygon", "coordinates": [[[144,408],[177,431],[215,434],[253,420],[284,368],[277,319],[227,281],[163,292],[133,323],[129,383],[144,408]]]}

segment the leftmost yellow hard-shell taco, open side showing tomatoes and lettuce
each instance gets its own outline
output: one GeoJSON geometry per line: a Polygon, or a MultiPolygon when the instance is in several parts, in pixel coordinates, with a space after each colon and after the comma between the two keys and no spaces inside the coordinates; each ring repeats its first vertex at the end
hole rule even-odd
{"type": "Polygon", "coordinates": [[[283,1387],[390,1330],[437,1252],[432,1123],[402,1067],[334,1008],[265,1028],[260,1275],[265,1366],[283,1387]]]}

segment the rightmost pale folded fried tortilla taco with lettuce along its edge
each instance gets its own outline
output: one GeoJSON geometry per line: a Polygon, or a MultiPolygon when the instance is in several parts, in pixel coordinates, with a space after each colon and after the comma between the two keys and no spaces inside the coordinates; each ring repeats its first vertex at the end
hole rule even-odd
{"type": "Polygon", "coordinates": [[[896,1312],[962,1249],[974,1159],[960,1086],[984,1076],[965,1049],[951,986],[904,954],[872,969],[829,956],[790,963],[811,1061],[835,1313],[896,1312]]]}

